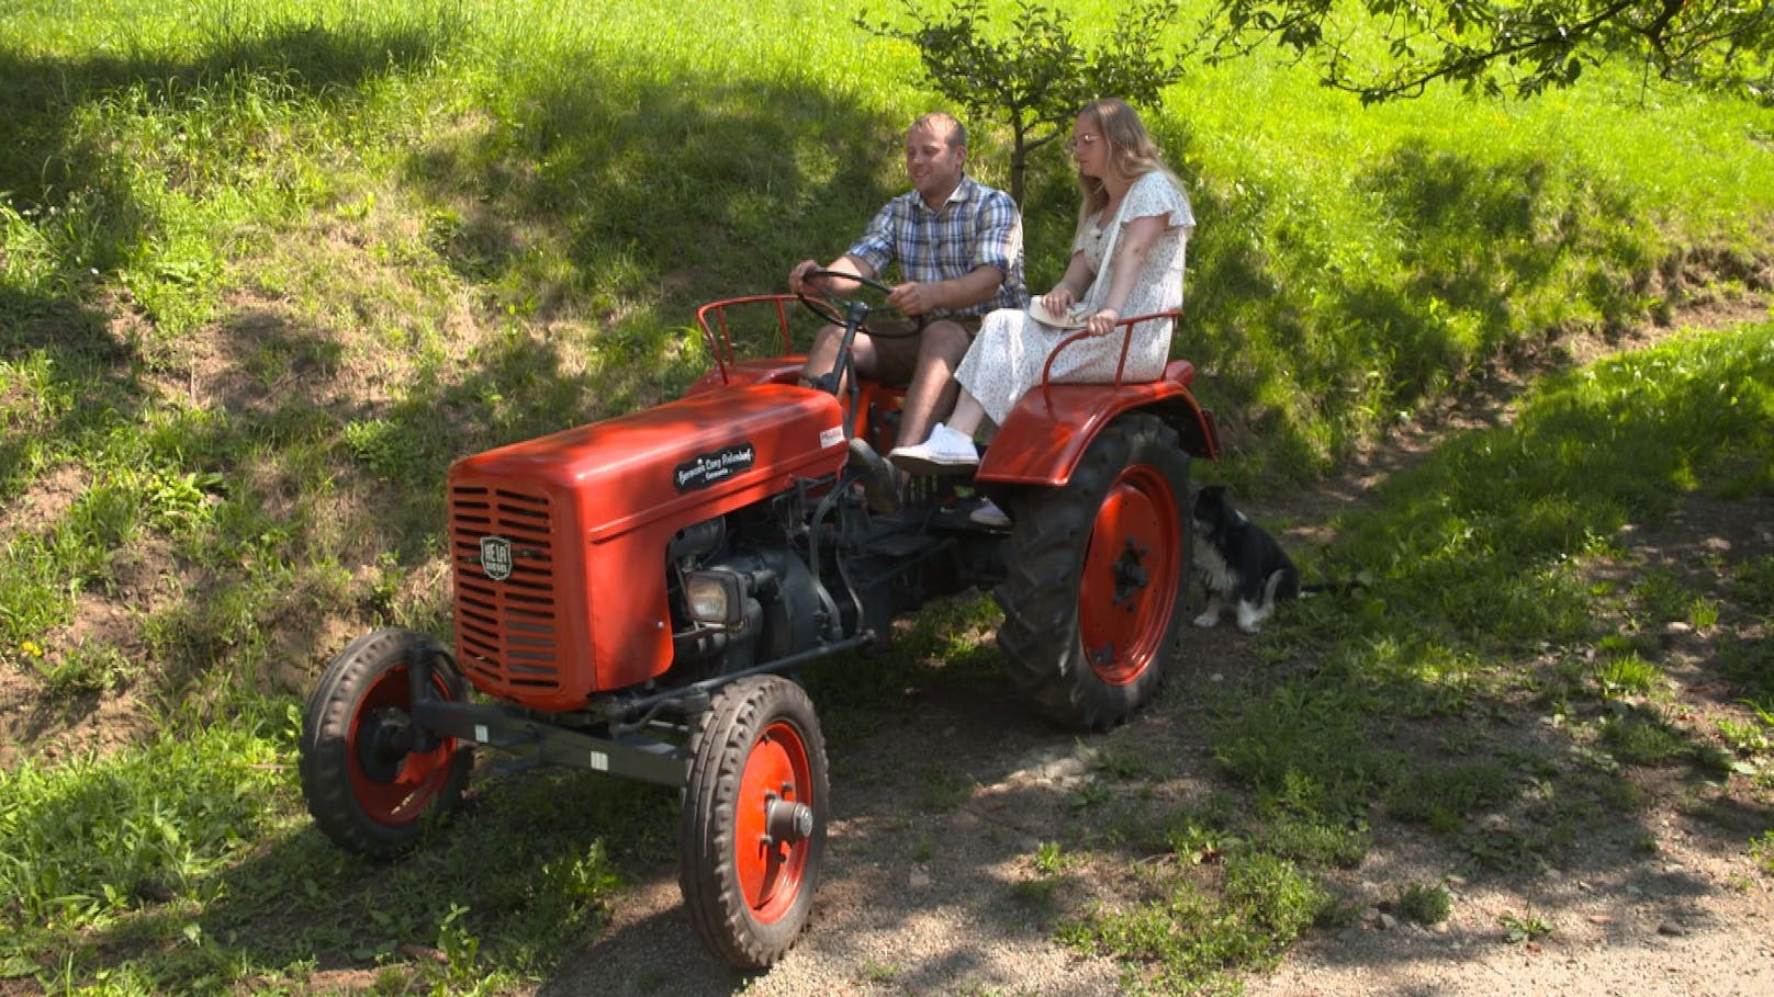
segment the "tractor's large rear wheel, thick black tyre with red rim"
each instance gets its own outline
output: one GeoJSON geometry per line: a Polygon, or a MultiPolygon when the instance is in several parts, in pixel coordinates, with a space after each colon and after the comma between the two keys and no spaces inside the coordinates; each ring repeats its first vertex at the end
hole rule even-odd
{"type": "Polygon", "coordinates": [[[1063,488],[1013,497],[999,648],[1047,717],[1125,720],[1180,651],[1189,600],[1189,454],[1153,415],[1103,428],[1063,488]]]}

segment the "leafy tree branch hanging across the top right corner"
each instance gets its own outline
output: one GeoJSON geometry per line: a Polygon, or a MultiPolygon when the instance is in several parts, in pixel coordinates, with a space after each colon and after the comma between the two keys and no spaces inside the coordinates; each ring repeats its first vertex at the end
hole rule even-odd
{"type": "Polygon", "coordinates": [[[1364,103],[1414,98],[1437,80],[1526,98],[1604,60],[1774,103],[1769,0],[1221,0],[1203,35],[1213,60],[1270,43],[1291,50],[1364,103]],[[1370,62],[1361,39],[1375,34],[1385,55],[1375,48],[1370,62]]]}

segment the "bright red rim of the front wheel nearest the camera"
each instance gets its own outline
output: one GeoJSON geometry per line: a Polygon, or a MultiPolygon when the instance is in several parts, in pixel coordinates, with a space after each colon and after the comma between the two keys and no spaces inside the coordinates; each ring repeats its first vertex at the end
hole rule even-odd
{"type": "Polygon", "coordinates": [[[772,841],[766,827],[770,804],[804,804],[811,798],[812,766],[807,743],[793,724],[777,720],[757,734],[745,758],[740,798],[733,816],[734,871],[740,892],[752,917],[761,922],[781,919],[795,905],[807,869],[811,839],[772,841]]]}

